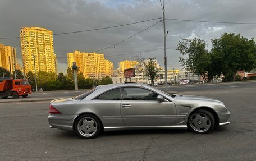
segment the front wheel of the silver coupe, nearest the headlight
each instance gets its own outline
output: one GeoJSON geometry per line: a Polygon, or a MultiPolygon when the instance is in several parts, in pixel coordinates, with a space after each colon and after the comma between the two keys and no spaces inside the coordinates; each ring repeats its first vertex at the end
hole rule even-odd
{"type": "Polygon", "coordinates": [[[188,129],[198,134],[207,134],[213,130],[215,120],[211,112],[198,109],[188,119],[188,129]]]}

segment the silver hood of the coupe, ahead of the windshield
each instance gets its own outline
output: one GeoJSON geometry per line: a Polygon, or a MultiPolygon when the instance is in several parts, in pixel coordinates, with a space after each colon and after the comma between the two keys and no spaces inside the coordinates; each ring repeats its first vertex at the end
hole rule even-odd
{"type": "Polygon", "coordinates": [[[216,103],[222,103],[222,101],[214,98],[208,98],[204,96],[195,96],[195,95],[180,95],[177,94],[174,98],[175,100],[199,100],[199,101],[205,101],[205,102],[216,102],[216,103]]]}

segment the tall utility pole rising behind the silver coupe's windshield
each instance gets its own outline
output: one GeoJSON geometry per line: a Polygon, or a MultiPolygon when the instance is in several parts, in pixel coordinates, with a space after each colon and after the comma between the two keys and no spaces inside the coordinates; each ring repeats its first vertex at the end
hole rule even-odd
{"type": "MultiPolygon", "coordinates": [[[[161,0],[160,0],[161,2],[161,0]]],[[[166,35],[168,34],[168,31],[166,33],[166,27],[165,27],[165,10],[164,10],[164,0],[163,0],[163,6],[162,6],[162,11],[163,11],[163,42],[164,42],[164,82],[165,82],[165,87],[166,87],[166,92],[168,92],[168,84],[167,84],[167,57],[166,57],[166,35]]]]}

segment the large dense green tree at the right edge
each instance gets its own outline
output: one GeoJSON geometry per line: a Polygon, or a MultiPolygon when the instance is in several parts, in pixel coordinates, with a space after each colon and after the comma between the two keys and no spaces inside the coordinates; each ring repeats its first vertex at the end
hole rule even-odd
{"type": "Polygon", "coordinates": [[[224,33],[221,38],[212,40],[214,63],[225,78],[232,78],[237,71],[248,72],[256,68],[256,46],[254,39],[248,40],[235,33],[224,33]]]}

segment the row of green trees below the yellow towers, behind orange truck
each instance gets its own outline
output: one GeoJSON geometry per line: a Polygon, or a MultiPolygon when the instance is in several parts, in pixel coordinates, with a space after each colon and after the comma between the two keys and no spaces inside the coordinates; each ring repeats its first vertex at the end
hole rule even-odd
{"type": "MultiPolygon", "coordinates": [[[[5,70],[4,68],[0,67],[0,73],[4,73],[4,76],[11,76],[10,71],[5,70]]],[[[1,74],[0,74],[1,75],[1,74]]],[[[14,72],[13,72],[14,78],[14,72]]],[[[20,70],[16,70],[16,78],[17,79],[24,79],[24,75],[20,70]]],[[[32,88],[35,89],[35,75],[31,71],[29,71],[25,79],[29,81],[29,84],[32,88]]],[[[83,73],[77,74],[78,80],[78,88],[79,89],[88,89],[92,88],[93,85],[106,85],[112,84],[113,81],[109,76],[103,77],[102,79],[92,79],[92,78],[85,78],[83,73]]],[[[63,73],[59,73],[56,75],[53,72],[45,72],[39,71],[36,73],[36,82],[38,85],[38,89],[42,88],[43,90],[68,90],[74,89],[74,75],[71,68],[67,68],[67,74],[64,75],[63,73]]]]}

